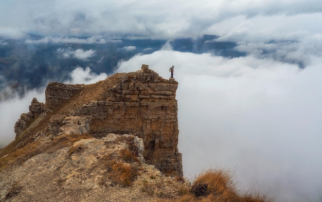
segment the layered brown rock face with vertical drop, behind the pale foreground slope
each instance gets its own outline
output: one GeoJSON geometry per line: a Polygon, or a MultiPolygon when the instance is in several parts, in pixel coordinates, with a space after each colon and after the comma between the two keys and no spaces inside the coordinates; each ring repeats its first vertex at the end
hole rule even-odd
{"type": "Polygon", "coordinates": [[[182,155],[178,152],[178,83],[166,80],[142,65],[141,70],[116,74],[90,85],[50,83],[45,108],[52,135],[70,133],[132,134],[143,139],[146,163],[167,176],[183,176],[182,155]]]}

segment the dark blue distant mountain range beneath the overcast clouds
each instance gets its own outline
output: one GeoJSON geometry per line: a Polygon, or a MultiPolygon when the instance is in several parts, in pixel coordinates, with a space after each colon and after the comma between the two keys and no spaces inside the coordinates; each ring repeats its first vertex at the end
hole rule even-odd
{"type": "MultiPolygon", "coordinates": [[[[216,35],[175,40],[47,37],[26,34],[24,39],[0,38],[0,92],[8,87],[24,94],[26,89],[44,86],[48,81],[63,82],[75,67],[90,67],[93,72],[110,74],[120,60],[135,54],[149,54],[169,43],[173,50],[241,57],[233,42],[216,42],[216,35]]],[[[9,95],[3,94],[0,100],[9,95]]]]}

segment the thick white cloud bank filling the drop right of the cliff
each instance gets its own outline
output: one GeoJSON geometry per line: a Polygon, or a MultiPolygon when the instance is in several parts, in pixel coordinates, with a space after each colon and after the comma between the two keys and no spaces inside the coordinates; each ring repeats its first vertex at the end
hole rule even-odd
{"type": "Polygon", "coordinates": [[[235,170],[241,189],[268,192],[277,201],[318,201],[322,193],[321,59],[295,65],[255,57],[157,51],[119,64],[141,64],[178,81],[179,150],[184,174],[235,170]]]}

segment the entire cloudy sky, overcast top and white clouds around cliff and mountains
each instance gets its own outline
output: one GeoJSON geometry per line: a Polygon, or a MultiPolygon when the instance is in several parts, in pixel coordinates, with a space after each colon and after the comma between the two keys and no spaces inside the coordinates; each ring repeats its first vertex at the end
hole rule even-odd
{"type": "MultiPolygon", "coordinates": [[[[91,36],[98,43],[119,36],[171,40],[214,34],[221,36],[218,41],[236,42],[246,57],[177,52],[167,44],[121,61],[116,71],[148,64],[169,78],[174,65],[186,177],[226,168],[242,190],[257,189],[276,201],[322,200],[321,1],[2,0],[0,19],[0,36],[11,39],[37,33],[44,40],[91,36]]],[[[60,51],[62,57],[86,59],[95,50],[60,51]]],[[[66,83],[107,75],[79,67],[70,76],[66,83]]],[[[32,97],[44,102],[42,90],[0,103],[6,132],[1,141],[14,138],[13,125],[28,112],[32,97]]]]}

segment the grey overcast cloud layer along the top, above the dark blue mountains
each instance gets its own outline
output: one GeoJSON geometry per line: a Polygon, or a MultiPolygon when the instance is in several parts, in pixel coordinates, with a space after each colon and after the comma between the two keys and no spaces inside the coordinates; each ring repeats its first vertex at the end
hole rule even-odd
{"type": "Polygon", "coordinates": [[[15,38],[23,36],[17,34],[21,31],[167,39],[205,33],[243,35],[248,31],[261,33],[259,36],[284,36],[307,30],[320,33],[318,19],[322,18],[322,3],[319,0],[202,0],[198,3],[4,0],[0,11],[0,19],[6,19],[0,22],[0,34],[15,38]]]}

